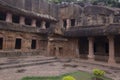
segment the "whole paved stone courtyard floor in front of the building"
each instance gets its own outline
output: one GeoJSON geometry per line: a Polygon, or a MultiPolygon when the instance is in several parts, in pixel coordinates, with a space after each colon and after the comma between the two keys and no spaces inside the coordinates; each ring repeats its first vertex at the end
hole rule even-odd
{"type": "Polygon", "coordinates": [[[56,59],[53,57],[34,56],[22,58],[0,58],[0,80],[21,80],[26,76],[57,76],[78,70],[92,72],[99,68],[106,71],[106,76],[120,80],[120,65],[111,67],[105,63],[87,60],[56,59]]]}

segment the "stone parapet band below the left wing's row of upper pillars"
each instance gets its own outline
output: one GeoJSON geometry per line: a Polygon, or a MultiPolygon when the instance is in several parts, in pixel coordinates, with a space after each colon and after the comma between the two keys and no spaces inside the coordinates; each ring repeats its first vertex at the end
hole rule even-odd
{"type": "Polygon", "coordinates": [[[30,32],[30,33],[41,33],[47,34],[49,29],[41,29],[38,27],[32,27],[29,25],[20,25],[16,23],[8,23],[5,21],[0,21],[0,29],[1,30],[10,30],[10,31],[18,31],[18,32],[30,32]]]}

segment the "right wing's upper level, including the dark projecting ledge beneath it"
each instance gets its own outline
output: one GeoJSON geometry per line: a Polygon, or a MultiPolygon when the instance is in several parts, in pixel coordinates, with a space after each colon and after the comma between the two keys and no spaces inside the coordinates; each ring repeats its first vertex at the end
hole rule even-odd
{"type": "Polygon", "coordinates": [[[65,36],[95,36],[119,34],[120,9],[100,5],[62,4],[59,10],[60,26],[65,36]]]}

